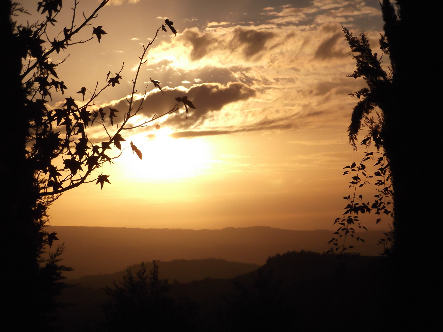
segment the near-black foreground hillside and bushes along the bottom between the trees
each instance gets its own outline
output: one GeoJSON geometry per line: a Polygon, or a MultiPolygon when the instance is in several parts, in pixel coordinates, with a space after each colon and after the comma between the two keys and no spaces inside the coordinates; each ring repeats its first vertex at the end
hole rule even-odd
{"type": "MultiPolygon", "coordinates": [[[[149,306],[140,299],[134,302],[140,294],[129,296],[131,300],[126,298],[125,303],[126,307],[130,303],[131,314],[119,312],[117,287],[104,288],[109,285],[107,276],[102,277],[102,283],[96,276],[92,286],[77,283],[64,290],[60,301],[72,305],[60,310],[57,324],[62,331],[110,331],[116,326],[109,325],[110,318],[115,322],[120,315],[132,317],[124,321],[125,329],[140,331],[154,326],[167,331],[177,324],[193,331],[387,330],[395,327],[395,322],[387,296],[392,286],[390,273],[384,259],[292,251],[269,257],[264,266],[235,278],[187,283],[155,281],[157,265],[147,264],[146,287],[140,286],[143,282],[137,284],[136,271],[126,274],[125,282],[120,278],[123,283],[117,285],[121,290],[128,286],[128,278],[133,278],[132,286],[137,284],[148,294],[148,284],[154,280],[157,302],[149,306]],[[109,316],[111,299],[114,305],[109,316]],[[163,310],[157,313],[159,305],[163,310]]],[[[215,264],[217,261],[222,260],[214,260],[215,264]]]]}

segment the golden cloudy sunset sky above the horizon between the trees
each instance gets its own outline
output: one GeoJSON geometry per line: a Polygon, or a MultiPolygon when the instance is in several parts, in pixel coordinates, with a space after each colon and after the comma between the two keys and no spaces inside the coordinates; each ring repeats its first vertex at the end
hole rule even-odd
{"type": "MultiPolygon", "coordinates": [[[[37,2],[22,2],[32,15],[19,21],[42,19],[37,2]]],[[[71,2],[63,1],[58,24],[48,28],[51,40],[70,25],[71,2]]],[[[99,3],[80,1],[75,23],[99,3]]],[[[51,54],[54,63],[70,54],[57,67],[68,89],[65,96],[53,93],[51,107],[64,97],[80,102],[82,86],[104,86],[108,71],[117,73],[124,63],[120,84],[95,102],[127,111],[142,45],[166,18],[178,33],[160,31],[150,46],[135,100],[151,78],[164,94],[148,85],[139,120],[167,112],[175,97],[187,96],[196,109],[187,118],[181,108],[159,119],[158,130],[125,132],[122,156],[103,169],[111,184],[100,189],[94,181],[63,193],[49,209],[51,225],[334,229],[343,197],[352,194],[343,167],[365,152],[362,146],[354,153],[347,139],[356,103],[348,94],[365,82],[346,77],[355,62],[341,29],[365,31],[377,50],[378,1],[115,0],[76,38],[89,39],[92,27],[102,26],[100,43],[94,38],[51,54]]],[[[88,135],[97,142],[103,137],[98,127],[88,135]]],[[[373,187],[359,193],[364,201],[375,194],[373,187]]],[[[369,230],[388,228],[390,220],[376,225],[375,219],[362,218],[369,230]]]]}

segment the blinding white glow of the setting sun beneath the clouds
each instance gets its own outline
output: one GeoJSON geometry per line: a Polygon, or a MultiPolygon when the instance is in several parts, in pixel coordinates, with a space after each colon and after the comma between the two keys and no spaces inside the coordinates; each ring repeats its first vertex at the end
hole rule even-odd
{"type": "Polygon", "coordinates": [[[172,132],[164,127],[156,130],[151,139],[145,134],[127,137],[126,140],[132,141],[143,153],[143,159],[130,153],[130,147],[126,148],[117,161],[121,174],[136,181],[156,181],[189,178],[202,173],[209,164],[207,143],[201,138],[173,139],[172,132]]]}

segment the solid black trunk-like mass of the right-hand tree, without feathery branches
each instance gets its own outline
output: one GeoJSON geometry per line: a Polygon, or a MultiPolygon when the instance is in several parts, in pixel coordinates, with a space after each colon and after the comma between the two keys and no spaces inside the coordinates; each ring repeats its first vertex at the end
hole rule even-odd
{"type": "MultiPolygon", "coordinates": [[[[387,3],[384,1],[383,5],[387,3]]],[[[400,21],[396,28],[384,10],[384,30],[395,64],[392,97],[383,110],[383,147],[394,190],[395,296],[401,324],[426,330],[425,326],[433,321],[431,317],[437,317],[435,303],[439,301],[440,288],[437,287],[440,274],[435,266],[440,235],[437,224],[441,219],[435,156],[436,134],[441,130],[437,127],[441,126],[437,111],[441,107],[435,105],[430,78],[441,80],[441,65],[426,66],[436,60],[425,52],[434,46],[425,37],[427,30],[422,31],[425,21],[431,20],[429,8],[413,1],[398,1],[398,4],[400,21]]],[[[435,86],[434,89],[439,90],[435,86]]]]}

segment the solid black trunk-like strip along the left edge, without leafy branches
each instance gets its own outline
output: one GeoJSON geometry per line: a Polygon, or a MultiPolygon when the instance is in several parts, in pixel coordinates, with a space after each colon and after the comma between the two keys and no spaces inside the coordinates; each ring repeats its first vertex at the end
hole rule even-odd
{"type": "MultiPolygon", "coordinates": [[[[26,158],[29,115],[25,108],[26,91],[21,83],[22,62],[13,35],[11,1],[0,2],[2,39],[2,143],[0,153],[3,192],[1,227],[5,246],[2,259],[3,325],[14,331],[40,330],[42,317],[39,285],[39,231],[35,222],[38,188],[26,158]]],[[[44,316],[44,315],[43,315],[44,316]]]]}

